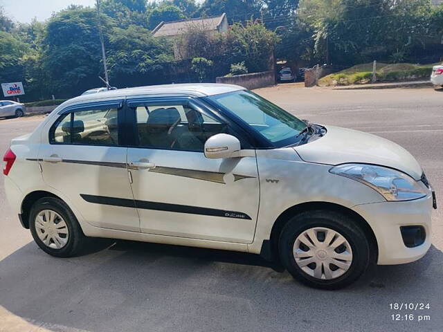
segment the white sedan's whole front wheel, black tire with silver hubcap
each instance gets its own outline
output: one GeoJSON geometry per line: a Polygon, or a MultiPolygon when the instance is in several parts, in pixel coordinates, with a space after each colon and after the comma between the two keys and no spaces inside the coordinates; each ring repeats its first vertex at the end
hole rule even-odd
{"type": "Polygon", "coordinates": [[[370,244],[356,221],[324,210],[293,216],[280,233],[279,253],[283,266],[295,279],[321,289],[352,284],[370,263],[370,244]],[[313,234],[316,240],[311,239],[313,234]],[[343,246],[338,246],[340,242],[343,246]]]}

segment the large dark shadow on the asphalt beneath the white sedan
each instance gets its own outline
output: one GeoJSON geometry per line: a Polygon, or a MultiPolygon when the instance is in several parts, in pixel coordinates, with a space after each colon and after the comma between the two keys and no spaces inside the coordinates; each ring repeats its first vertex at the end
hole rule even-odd
{"type": "Polygon", "coordinates": [[[0,305],[57,331],[408,331],[389,304],[430,302],[432,320],[419,326],[437,331],[442,264],[432,247],[413,264],[374,267],[328,292],[246,253],[118,241],[57,259],[28,243],[0,261],[0,305]]]}

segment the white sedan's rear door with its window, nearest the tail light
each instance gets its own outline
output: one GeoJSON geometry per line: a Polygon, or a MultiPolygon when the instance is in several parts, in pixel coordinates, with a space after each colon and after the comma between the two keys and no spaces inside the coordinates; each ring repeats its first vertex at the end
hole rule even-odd
{"type": "Polygon", "coordinates": [[[127,147],[119,144],[122,102],[82,104],[62,111],[44,131],[39,162],[46,184],[66,195],[88,223],[140,232],[127,147]]]}

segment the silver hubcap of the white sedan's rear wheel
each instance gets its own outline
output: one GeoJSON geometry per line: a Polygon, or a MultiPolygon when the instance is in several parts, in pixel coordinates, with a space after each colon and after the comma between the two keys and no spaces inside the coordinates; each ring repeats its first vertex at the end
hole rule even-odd
{"type": "Polygon", "coordinates": [[[69,240],[66,222],[53,210],[42,210],[35,217],[35,231],[40,240],[48,247],[61,249],[69,240]]]}

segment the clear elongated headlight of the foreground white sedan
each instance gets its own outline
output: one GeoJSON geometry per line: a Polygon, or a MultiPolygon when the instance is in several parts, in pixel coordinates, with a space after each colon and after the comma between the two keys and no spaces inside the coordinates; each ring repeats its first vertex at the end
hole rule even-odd
{"type": "Polygon", "coordinates": [[[409,201],[420,199],[428,190],[419,181],[402,172],[382,166],[365,164],[343,164],[332,167],[329,172],[352,178],[368,185],[386,201],[409,201]]]}

